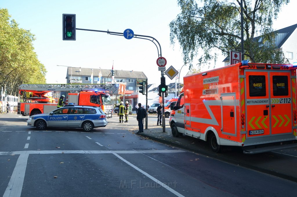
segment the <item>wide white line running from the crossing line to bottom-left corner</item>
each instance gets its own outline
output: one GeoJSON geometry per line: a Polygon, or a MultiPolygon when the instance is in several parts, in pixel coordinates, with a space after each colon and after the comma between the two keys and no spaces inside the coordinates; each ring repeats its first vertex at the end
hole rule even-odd
{"type": "Polygon", "coordinates": [[[23,182],[25,178],[25,172],[27,167],[29,154],[20,154],[17,163],[15,164],[15,169],[12,172],[10,181],[4,192],[4,197],[6,196],[20,196],[23,188],[23,182]]]}

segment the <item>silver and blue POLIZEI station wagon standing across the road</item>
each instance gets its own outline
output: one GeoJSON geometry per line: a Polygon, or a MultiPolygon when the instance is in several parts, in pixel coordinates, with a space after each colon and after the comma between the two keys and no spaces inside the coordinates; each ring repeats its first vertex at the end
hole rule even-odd
{"type": "Polygon", "coordinates": [[[52,112],[29,117],[28,126],[45,130],[47,127],[82,128],[89,132],[107,125],[106,114],[100,107],[68,105],[52,112]]]}

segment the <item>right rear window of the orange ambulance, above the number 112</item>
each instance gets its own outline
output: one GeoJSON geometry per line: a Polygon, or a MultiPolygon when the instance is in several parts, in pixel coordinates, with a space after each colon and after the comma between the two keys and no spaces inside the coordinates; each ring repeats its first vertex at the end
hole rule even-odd
{"type": "Polygon", "coordinates": [[[288,76],[272,76],[273,96],[288,96],[288,76]]]}

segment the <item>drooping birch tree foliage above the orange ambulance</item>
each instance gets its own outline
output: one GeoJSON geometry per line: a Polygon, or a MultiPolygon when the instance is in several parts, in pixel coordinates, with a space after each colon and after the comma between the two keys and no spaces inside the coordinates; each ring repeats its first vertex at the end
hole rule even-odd
{"type": "MultiPolygon", "coordinates": [[[[276,50],[272,21],[289,0],[243,0],[244,55],[250,62],[286,63],[276,50]],[[261,39],[257,36],[261,35],[261,39]]],[[[230,50],[241,51],[240,0],[178,0],[181,13],[170,23],[170,41],[180,43],[184,62],[198,58],[198,66],[217,60],[230,50]],[[201,6],[200,6],[201,5],[201,6]],[[199,52],[199,54],[198,54],[199,52]]],[[[192,63],[190,63],[190,68],[192,63]]]]}

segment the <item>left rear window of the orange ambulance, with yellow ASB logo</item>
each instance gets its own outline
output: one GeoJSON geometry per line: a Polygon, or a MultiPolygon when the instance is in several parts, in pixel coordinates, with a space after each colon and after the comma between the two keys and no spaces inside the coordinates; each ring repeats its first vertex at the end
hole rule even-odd
{"type": "Polygon", "coordinates": [[[266,82],[264,75],[249,76],[249,96],[266,96],[266,82]]]}

